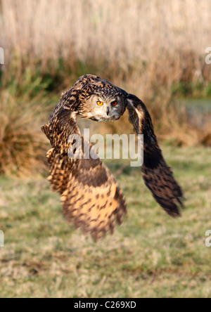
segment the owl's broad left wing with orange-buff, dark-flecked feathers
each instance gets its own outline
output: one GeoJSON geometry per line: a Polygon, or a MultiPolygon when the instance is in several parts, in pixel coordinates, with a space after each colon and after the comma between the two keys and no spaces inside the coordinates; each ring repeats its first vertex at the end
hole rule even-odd
{"type": "Polygon", "coordinates": [[[47,153],[49,181],[53,190],[60,193],[65,218],[75,228],[91,233],[95,240],[108,231],[113,233],[115,223],[121,224],[127,213],[124,197],[98,157],[84,159],[84,148],[90,151],[91,145],[80,136],[75,116],[61,108],[41,129],[52,145],[47,153]],[[70,150],[76,152],[73,141],[68,140],[70,134],[77,134],[82,140],[82,159],[68,155],[70,150]]]}

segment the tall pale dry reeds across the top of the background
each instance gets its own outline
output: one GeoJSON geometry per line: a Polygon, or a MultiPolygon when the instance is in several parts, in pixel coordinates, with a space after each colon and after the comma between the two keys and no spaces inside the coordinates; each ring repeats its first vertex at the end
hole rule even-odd
{"type": "Polygon", "coordinates": [[[80,62],[145,98],[163,85],[210,79],[210,20],[206,0],[1,0],[0,46],[18,79],[37,64],[53,74],[63,60],[68,84],[80,62]]]}

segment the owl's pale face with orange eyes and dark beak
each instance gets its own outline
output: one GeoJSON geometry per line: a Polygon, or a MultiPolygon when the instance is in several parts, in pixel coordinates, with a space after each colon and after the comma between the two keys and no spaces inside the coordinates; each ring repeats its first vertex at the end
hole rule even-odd
{"type": "Polygon", "coordinates": [[[124,110],[125,105],[122,97],[94,94],[86,101],[86,110],[82,113],[82,117],[96,122],[109,122],[120,119],[124,110]]]}

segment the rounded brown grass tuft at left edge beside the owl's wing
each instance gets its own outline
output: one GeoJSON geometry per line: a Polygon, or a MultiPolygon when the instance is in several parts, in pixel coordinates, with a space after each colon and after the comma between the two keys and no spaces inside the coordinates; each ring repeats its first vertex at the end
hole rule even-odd
{"type": "Polygon", "coordinates": [[[0,96],[0,174],[30,174],[44,167],[46,141],[39,109],[17,103],[6,91],[0,96]]]}

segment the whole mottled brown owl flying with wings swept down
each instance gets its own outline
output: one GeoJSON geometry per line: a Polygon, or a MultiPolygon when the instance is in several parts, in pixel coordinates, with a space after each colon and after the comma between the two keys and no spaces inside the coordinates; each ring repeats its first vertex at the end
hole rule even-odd
{"type": "Polygon", "coordinates": [[[167,166],[153,131],[151,116],[136,96],[110,84],[100,77],[86,74],[63,94],[48,124],[41,126],[51,143],[47,153],[50,166],[49,181],[53,191],[60,194],[63,214],[75,228],[98,240],[108,231],[113,233],[115,223],[121,224],[127,205],[124,195],[108,168],[96,159],[69,157],[71,134],[81,137],[77,115],[96,122],[120,119],[129,112],[129,122],[136,134],[143,134],[143,165],[141,173],[153,197],[172,217],[180,215],[183,207],[182,191],[167,166]]]}

